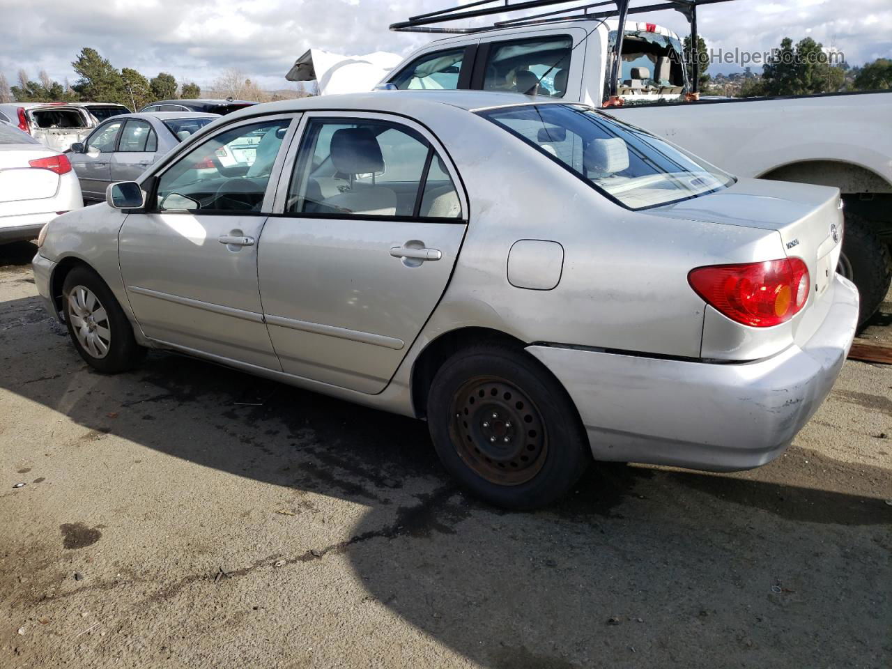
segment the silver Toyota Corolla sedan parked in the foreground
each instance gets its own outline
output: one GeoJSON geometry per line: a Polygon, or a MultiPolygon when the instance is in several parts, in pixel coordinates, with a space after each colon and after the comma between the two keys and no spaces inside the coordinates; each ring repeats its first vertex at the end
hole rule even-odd
{"type": "Polygon", "coordinates": [[[34,270],[101,372],[167,349],[424,418],[460,483],[535,508],[592,459],[776,458],[855,334],[841,213],[580,104],[331,95],[203,128],[34,270]]]}

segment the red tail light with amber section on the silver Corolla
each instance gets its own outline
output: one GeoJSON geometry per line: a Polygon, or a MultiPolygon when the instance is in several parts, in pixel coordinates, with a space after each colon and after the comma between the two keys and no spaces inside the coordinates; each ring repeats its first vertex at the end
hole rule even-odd
{"type": "Polygon", "coordinates": [[[788,321],[805,306],[811,281],[798,258],[690,270],[688,283],[716,310],[745,326],[788,321]]]}

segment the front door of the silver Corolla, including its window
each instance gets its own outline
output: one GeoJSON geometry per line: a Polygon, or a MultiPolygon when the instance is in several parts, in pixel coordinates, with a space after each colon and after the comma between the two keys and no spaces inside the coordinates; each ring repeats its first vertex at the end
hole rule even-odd
{"type": "MultiPolygon", "coordinates": [[[[119,235],[121,276],[146,336],[280,368],[263,322],[257,242],[292,122],[278,116],[202,139],[153,179],[146,211],[128,214],[119,235]]],[[[116,154],[125,155],[135,154],[116,154]]]]}

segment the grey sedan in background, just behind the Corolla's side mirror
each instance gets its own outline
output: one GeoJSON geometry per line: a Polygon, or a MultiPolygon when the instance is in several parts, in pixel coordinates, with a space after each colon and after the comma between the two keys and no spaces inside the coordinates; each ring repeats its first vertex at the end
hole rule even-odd
{"type": "Polygon", "coordinates": [[[219,118],[219,114],[159,111],[106,120],[83,142],[71,145],[69,160],[84,198],[104,200],[112,182],[139,178],[174,146],[219,118]]]}

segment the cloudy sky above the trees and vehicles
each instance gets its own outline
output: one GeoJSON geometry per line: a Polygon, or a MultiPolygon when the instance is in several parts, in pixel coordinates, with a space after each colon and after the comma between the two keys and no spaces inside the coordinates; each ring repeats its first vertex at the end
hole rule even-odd
{"type": "MultiPolygon", "coordinates": [[[[237,67],[267,88],[285,87],[285,72],[313,46],[341,54],[406,54],[430,37],[392,33],[388,24],[439,9],[450,0],[0,0],[0,71],[60,81],[77,77],[70,62],[93,46],[117,67],[208,87],[237,67]]],[[[638,0],[634,4],[642,4],[638,0]]],[[[647,4],[647,3],[645,3],[647,4]]],[[[651,21],[687,29],[678,12],[651,21]]],[[[862,64],[892,57],[890,0],[738,0],[701,8],[700,34],[714,49],[766,51],[781,37],[814,37],[862,64]]],[[[642,19],[643,20],[643,19],[642,19]]],[[[739,67],[713,65],[711,72],[739,67]]],[[[758,71],[758,68],[754,68],[758,71]]]]}

